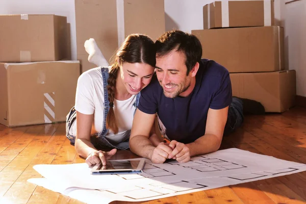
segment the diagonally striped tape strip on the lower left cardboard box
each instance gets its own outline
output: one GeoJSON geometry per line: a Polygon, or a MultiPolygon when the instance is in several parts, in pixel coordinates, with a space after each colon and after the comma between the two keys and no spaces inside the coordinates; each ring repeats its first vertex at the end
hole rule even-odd
{"type": "Polygon", "coordinates": [[[44,121],[52,123],[55,120],[55,92],[43,94],[44,121]]]}

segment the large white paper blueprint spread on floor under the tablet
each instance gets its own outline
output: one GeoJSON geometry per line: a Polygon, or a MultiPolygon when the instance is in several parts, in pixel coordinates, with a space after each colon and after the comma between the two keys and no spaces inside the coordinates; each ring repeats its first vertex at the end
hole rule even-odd
{"type": "Polygon", "coordinates": [[[87,203],[145,201],[246,183],[306,170],[306,165],[237,148],[193,157],[190,162],[152,164],[142,173],[92,175],[86,163],[36,165],[44,178],[29,182],[87,203]]]}

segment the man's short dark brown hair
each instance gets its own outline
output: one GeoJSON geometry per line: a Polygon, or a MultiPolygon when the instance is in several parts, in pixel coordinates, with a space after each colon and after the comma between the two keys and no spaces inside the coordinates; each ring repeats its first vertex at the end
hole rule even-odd
{"type": "Polygon", "coordinates": [[[192,34],[183,31],[172,30],[164,33],[155,42],[157,48],[157,57],[164,57],[172,50],[182,52],[186,56],[185,65],[187,75],[202,57],[202,45],[200,41],[192,34]]]}

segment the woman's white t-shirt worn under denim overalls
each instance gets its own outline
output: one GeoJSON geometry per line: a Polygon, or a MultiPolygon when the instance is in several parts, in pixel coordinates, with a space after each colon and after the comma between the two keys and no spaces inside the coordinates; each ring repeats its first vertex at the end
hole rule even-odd
{"type": "MultiPolygon", "coordinates": [[[[118,124],[118,134],[114,135],[111,131],[106,137],[112,143],[119,143],[131,134],[136,101],[136,95],[126,100],[114,100],[114,113],[118,124]]],[[[93,114],[93,125],[95,130],[100,133],[104,125],[104,86],[101,68],[93,68],[81,74],[78,79],[77,93],[75,95],[75,110],[80,113],[93,114]]],[[[109,101],[107,100],[108,104],[109,101]]],[[[77,133],[77,122],[70,128],[70,135],[77,133]]]]}

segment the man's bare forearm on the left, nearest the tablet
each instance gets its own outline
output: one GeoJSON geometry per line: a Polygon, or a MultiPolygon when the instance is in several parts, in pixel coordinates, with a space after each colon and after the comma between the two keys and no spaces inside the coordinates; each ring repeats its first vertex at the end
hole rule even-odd
{"type": "Polygon", "coordinates": [[[137,135],[130,139],[130,149],[140,157],[151,159],[155,146],[152,145],[147,137],[137,135]]]}

